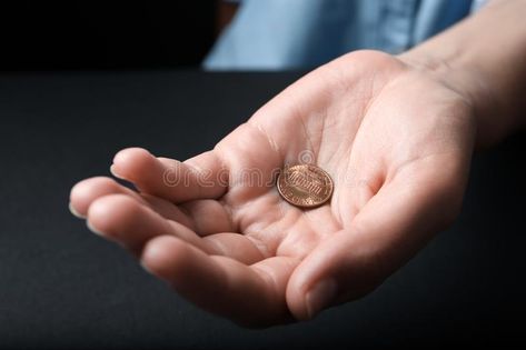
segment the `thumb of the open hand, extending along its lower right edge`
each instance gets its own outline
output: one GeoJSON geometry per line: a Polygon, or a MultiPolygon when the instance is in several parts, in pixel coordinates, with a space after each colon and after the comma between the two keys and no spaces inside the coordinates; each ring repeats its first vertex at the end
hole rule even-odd
{"type": "Polygon", "coordinates": [[[466,171],[417,167],[385,184],[350,227],[321,242],[297,268],[287,302],[298,319],[363,297],[409,260],[457,214],[466,171]]]}

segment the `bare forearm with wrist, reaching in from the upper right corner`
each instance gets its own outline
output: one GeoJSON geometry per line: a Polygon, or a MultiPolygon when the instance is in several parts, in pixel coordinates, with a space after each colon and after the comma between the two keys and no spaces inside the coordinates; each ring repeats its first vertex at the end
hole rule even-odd
{"type": "Polygon", "coordinates": [[[478,147],[526,124],[526,0],[493,0],[400,57],[473,103],[478,147]]]}

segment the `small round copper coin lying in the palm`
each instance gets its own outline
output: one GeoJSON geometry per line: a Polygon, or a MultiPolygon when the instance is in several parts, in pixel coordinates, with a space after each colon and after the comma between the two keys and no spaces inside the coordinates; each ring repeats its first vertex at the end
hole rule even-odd
{"type": "Polygon", "coordinates": [[[279,173],[279,194],[292,206],[318,207],[333,194],[333,179],[321,168],[312,164],[285,166],[279,173]]]}

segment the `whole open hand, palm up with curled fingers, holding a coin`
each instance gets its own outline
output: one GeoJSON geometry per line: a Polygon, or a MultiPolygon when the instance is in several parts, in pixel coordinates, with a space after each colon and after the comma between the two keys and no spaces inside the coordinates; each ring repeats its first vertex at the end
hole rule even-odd
{"type": "Polygon", "coordinates": [[[87,179],[70,206],[211,312],[248,326],[305,320],[374,290],[454,220],[475,127],[469,100],[426,70],[358,51],[290,86],[209,152],[179,162],[120,151],[111,170],[138,191],[87,179]],[[335,182],[316,209],[274,186],[276,169],[302,161],[335,182]]]}

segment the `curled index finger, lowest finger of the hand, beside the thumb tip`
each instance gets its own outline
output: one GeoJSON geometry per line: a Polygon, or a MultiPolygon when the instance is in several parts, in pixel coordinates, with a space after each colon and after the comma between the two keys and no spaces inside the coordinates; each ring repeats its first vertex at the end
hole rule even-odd
{"type": "Polygon", "coordinates": [[[191,302],[236,322],[266,326],[289,317],[285,287],[295,266],[290,258],[252,268],[162,236],[147,243],[141,263],[191,302]]]}

